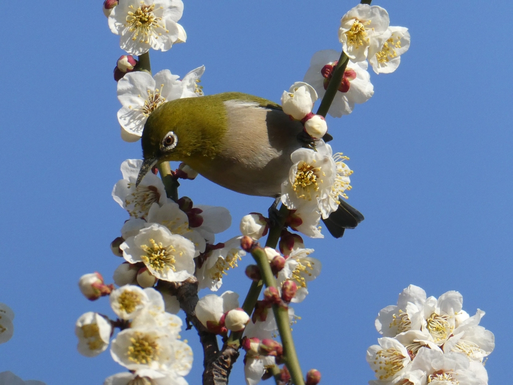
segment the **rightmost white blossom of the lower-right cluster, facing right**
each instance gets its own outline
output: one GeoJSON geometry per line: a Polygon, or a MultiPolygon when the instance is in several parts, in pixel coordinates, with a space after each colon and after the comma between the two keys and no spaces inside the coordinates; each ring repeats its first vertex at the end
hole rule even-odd
{"type": "Polygon", "coordinates": [[[478,309],[475,316],[462,322],[444,343],[444,352],[458,352],[466,354],[470,360],[483,361],[495,349],[495,336],[479,326],[485,312],[478,309]]]}

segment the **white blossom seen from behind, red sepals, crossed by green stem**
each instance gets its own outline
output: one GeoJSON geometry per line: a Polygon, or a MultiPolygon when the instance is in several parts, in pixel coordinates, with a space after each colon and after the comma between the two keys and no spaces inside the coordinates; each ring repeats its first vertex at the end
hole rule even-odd
{"type": "MultiPolygon", "coordinates": [[[[303,80],[315,88],[321,99],[326,93],[339,57],[340,52],[328,49],[315,52],[310,60],[310,67],[303,80]]],[[[367,67],[367,62],[347,63],[342,83],[328,111],[333,118],[350,114],[354,104],[365,103],[374,94],[367,67]]]]}

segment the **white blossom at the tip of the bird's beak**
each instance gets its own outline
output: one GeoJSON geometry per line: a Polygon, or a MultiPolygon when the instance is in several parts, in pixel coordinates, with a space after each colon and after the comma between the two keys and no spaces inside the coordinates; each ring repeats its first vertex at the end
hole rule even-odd
{"type": "MultiPolygon", "coordinates": [[[[124,161],[121,164],[123,179],[118,181],[112,189],[112,198],[126,209],[132,218],[146,218],[153,203],[163,205],[167,202],[164,184],[152,172],[148,172],[139,186],[135,187],[142,164],[143,161],[140,159],[124,161]]],[[[137,222],[135,224],[140,225],[141,223],[137,222]]],[[[139,232],[139,229],[136,228],[135,232],[139,232]]],[[[128,229],[125,230],[126,232],[128,232],[128,229]]],[[[127,239],[130,234],[122,233],[122,235],[124,239],[127,239]]]]}

